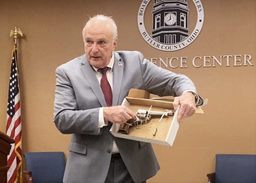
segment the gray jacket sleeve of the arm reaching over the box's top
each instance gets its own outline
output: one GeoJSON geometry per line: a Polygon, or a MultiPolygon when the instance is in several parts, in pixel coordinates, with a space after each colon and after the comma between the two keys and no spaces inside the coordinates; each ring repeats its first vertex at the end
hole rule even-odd
{"type": "Polygon", "coordinates": [[[187,90],[196,91],[194,83],[183,74],[176,74],[156,66],[138,54],[143,82],[146,90],[159,96],[180,96],[187,90]]]}

